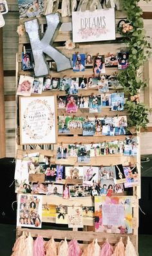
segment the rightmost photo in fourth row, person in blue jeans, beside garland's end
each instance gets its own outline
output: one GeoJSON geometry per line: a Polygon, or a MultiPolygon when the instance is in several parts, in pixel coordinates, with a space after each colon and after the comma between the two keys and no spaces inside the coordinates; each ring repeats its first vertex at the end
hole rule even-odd
{"type": "Polygon", "coordinates": [[[127,133],[127,117],[126,115],[114,117],[115,135],[125,135],[127,133]]]}

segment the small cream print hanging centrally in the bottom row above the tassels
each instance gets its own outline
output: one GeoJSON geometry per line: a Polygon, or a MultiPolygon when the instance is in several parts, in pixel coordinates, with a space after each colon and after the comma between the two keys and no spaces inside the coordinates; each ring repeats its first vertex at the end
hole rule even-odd
{"type": "Polygon", "coordinates": [[[83,227],[81,206],[68,206],[68,227],[83,227]]]}

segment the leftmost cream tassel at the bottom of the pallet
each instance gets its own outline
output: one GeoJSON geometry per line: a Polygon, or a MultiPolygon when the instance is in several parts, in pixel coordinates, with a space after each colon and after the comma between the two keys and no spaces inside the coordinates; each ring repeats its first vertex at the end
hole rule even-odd
{"type": "Polygon", "coordinates": [[[23,232],[23,234],[21,235],[21,237],[18,237],[15,241],[14,247],[12,248],[12,255],[11,256],[26,256],[24,254],[24,250],[25,250],[25,233],[23,232]]]}

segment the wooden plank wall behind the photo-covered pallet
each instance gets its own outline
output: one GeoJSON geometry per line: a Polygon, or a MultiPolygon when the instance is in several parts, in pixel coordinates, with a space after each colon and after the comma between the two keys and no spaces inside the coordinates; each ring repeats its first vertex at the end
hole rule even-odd
{"type": "MultiPolygon", "coordinates": [[[[18,51],[19,11],[17,0],[8,0],[8,14],[5,14],[5,27],[3,27],[3,58],[4,58],[4,86],[5,86],[5,120],[6,120],[6,157],[15,157],[15,63],[18,51]]],[[[144,12],[151,12],[152,2],[140,1],[144,12]]],[[[152,38],[152,15],[151,19],[144,20],[147,36],[152,38]]],[[[152,39],[151,45],[152,45],[152,39]]],[[[151,67],[152,68],[152,67],[151,67]]],[[[152,85],[151,85],[152,86],[152,85]]],[[[144,101],[144,91],[142,92],[144,101]]],[[[149,126],[152,126],[152,115],[149,115],[149,126]]],[[[152,132],[141,136],[141,154],[152,154],[152,132]]]]}

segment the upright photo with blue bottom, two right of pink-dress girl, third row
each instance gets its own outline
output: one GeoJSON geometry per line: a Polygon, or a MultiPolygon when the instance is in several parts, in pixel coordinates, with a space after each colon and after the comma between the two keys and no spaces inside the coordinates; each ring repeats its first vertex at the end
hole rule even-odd
{"type": "Polygon", "coordinates": [[[100,113],[101,111],[101,97],[100,95],[93,95],[89,97],[90,113],[100,113]]]}

